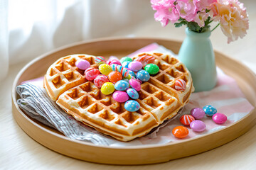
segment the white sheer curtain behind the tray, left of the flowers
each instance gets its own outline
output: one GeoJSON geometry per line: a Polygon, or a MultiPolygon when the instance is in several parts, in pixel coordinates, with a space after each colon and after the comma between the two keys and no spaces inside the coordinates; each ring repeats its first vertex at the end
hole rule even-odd
{"type": "Polygon", "coordinates": [[[153,14],[148,0],[0,0],[0,80],[9,64],[124,29],[132,34],[153,14]]]}

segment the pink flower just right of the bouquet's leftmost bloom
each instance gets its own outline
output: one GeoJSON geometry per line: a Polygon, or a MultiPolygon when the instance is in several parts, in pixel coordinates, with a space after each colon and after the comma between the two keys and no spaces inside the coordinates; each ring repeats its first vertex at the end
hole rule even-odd
{"type": "Polygon", "coordinates": [[[177,0],[176,8],[181,18],[186,19],[186,21],[191,22],[196,16],[196,12],[198,11],[195,1],[192,0],[177,0]]]}

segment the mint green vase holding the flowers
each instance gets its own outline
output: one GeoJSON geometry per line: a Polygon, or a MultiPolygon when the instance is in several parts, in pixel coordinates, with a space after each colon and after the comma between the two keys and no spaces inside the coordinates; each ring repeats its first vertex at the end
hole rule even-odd
{"type": "Polygon", "coordinates": [[[186,38],[178,52],[178,59],[191,72],[195,92],[209,91],[217,83],[215,56],[209,37],[210,30],[196,33],[186,28],[186,38]]]}

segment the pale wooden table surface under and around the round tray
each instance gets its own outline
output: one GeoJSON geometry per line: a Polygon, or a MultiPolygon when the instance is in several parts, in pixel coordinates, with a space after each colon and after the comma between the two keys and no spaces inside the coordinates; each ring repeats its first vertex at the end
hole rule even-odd
{"type": "MultiPolygon", "coordinates": [[[[254,0],[243,2],[250,14],[250,30],[247,36],[227,44],[227,39],[218,28],[212,33],[210,39],[215,50],[242,60],[255,70],[256,2],[254,0]]],[[[161,28],[160,23],[156,23],[150,17],[136,28],[122,30],[111,36],[124,35],[174,40],[185,38],[184,28],[174,28],[171,25],[161,28]]],[[[11,113],[11,86],[16,74],[25,64],[26,62],[23,62],[11,66],[8,77],[0,83],[0,169],[256,169],[256,126],[226,145],[162,164],[144,166],[93,164],[53,152],[26,135],[16,124],[11,113]]]]}

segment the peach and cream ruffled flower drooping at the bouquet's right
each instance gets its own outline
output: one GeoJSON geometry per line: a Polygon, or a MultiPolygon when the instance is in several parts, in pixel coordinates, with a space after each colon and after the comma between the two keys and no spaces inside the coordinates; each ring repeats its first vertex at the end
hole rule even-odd
{"type": "Polygon", "coordinates": [[[220,28],[228,37],[228,43],[245,37],[249,19],[242,3],[238,0],[218,0],[217,11],[215,21],[220,21],[220,28]]]}

